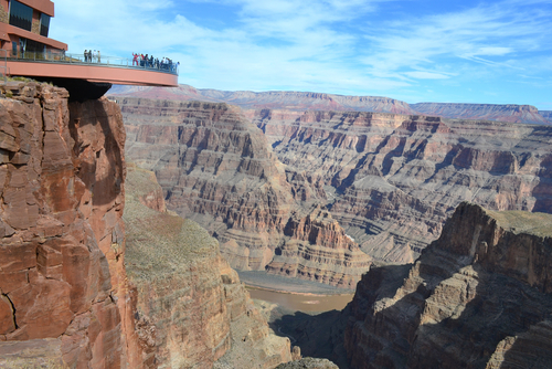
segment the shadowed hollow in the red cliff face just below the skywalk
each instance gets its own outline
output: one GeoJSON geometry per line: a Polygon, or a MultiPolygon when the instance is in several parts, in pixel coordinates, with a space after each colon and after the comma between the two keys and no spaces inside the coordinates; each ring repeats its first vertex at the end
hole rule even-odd
{"type": "MultiPolygon", "coordinates": [[[[107,101],[73,102],[70,108],[70,130],[74,139],[77,176],[93,192],[93,204],[109,204],[120,194],[124,178],[125,130],[115,119],[116,105],[107,101]],[[100,133],[95,127],[100,125],[100,133]],[[121,143],[119,145],[119,143],[121,143]]],[[[123,118],[120,118],[120,122],[123,118]]]]}

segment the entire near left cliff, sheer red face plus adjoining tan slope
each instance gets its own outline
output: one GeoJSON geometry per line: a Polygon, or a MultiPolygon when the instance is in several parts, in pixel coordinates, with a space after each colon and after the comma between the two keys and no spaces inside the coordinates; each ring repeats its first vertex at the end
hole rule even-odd
{"type": "Polygon", "coordinates": [[[153,175],[137,180],[132,168],[125,205],[115,103],[68,103],[67,91],[34,82],[1,88],[0,367],[291,359],[289,339],[269,330],[217,242],[167,212],[153,175]]]}

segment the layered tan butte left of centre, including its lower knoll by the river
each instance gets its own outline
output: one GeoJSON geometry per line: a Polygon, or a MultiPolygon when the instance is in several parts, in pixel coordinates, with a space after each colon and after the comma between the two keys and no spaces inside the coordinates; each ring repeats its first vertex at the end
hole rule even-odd
{"type": "Polygon", "coordinates": [[[198,221],[233,267],[354,287],[371,262],[288,172],[263,133],[226,104],[125,98],[127,156],[150,169],[167,207],[198,221]],[[309,213],[312,214],[309,215],[309,213]],[[308,218],[308,224],[299,218],[308,218]],[[298,230],[297,228],[302,228],[298,230]],[[323,242],[321,235],[323,234],[323,242]],[[279,253],[277,260],[275,253],[279,253]]]}

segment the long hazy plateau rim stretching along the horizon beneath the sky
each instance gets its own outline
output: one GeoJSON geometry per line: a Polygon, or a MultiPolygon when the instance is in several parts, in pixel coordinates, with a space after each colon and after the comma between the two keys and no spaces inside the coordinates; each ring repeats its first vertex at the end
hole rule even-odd
{"type": "Polygon", "coordinates": [[[516,104],[450,104],[418,103],[407,104],[382,96],[344,96],[311,92],[272,91],[255,93],[251,91],[217,91],[194,88],[180,85],[174,88],[114,86],[109,94],[114,96],[202,101],[227,103],[250,110],[251,116],[258,116],[263,110],[279,110],[286,114],[305,110],[333,112],[373,112],[394,114],[424,114],[450,119],[486,119],[510,123],[552,124],[550,112],[538,110],[531,105],[516,104]]]}

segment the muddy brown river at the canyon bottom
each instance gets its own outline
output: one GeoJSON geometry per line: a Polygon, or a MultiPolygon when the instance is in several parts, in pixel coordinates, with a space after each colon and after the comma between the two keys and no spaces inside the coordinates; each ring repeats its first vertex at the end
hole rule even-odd
{"type": "Polygon", "coordinates": [[[354,294],[346,295],[314,295],[314,294],[289,294],[284,292],[261,289],[247,286],[252,298],[263,299],[277,304],[289,310],[299,312],[328,312],[341,310],[349,304],[354,294]]]}

